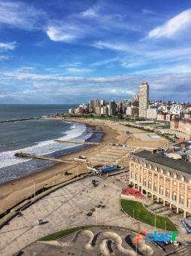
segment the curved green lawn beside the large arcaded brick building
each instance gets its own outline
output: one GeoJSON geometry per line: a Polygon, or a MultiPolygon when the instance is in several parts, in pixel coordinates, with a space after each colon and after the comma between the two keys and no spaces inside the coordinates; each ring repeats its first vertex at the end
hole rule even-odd
{"type": "Polygon", "coordinates": [[[131,200],[121,200],[121,207],[123,210],[130,216],[133,217],[134,210],[134,218],[138,221],[141,221],[145,224],[149,224],[150,226],[155,226],[155,216],[156,216],[156,227],[165,230],[165,221],[166,221],[166,230],[172,231],[177,230],[174,224],[165,217],[154,215],[152,212],[149,212],[144,208],[142,203],[131,201],[131,200]]]}

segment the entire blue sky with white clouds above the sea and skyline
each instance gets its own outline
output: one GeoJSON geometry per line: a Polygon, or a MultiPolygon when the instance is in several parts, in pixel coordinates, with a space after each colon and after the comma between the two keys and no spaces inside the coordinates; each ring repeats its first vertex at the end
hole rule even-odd
{"type": "Polygon", "coordinates": [[[0,0],[0,103],[191,100],[191,0],[0,0]]]}

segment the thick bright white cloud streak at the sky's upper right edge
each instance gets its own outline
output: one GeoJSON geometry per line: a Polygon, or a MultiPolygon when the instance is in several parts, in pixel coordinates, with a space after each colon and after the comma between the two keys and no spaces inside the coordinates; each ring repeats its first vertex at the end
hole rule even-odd
{"type": "MultiPolygon", "coordinates": [[[[149,38],[175,37],[191,27],[191,9],[181,12],[177,16],[151,30],[149,38]]],[[[189,32],[189,31],[188,31],[189,32]]]]}

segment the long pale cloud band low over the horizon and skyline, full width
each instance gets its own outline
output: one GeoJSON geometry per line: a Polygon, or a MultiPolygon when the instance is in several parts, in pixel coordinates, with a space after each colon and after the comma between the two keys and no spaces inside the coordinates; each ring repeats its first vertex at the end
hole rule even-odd
{"type": "MultiPolygon", "coordinates": [[[[42,75],[35,72],[22,72],[22,70],[12,70],[11,72],[0,72],[2,84],[9,81],[17,84],[14,87],[15,97],[20,93],[21,88],[25,92],[26,99],[41,102],[42,99],[52,102],[59,102],[59,99],[72,102],[88,101],[90,97],[102,97],[106,99],[125,99],[132,97],[138,92],[138,84],[145,78],[144,75],[116,75],[108,77],[84,77],[84,76],[58,76],[42,75]],[[128,81],[128,82],[127,82],[128,81]],[[53,90],[56,87],[56,92],[53,90]],[[71,94],[72,91],[72,94],[71,94]],[[38,97],[37,97],[38,96],[38,97]],[[73,97],[76,96],[74,99],[73,97]],[[35,99],[36,98],[36,99],[35,99]]],[[[191,96],[189,81],[191,72],[171,73],[154,75],[147,74],[150,82],[151,99],[171,99],[171,91],[174,91],[174,99],[180,96],[188,101],[191,96]],[[168,87],[166,87],[168,84],[168,87]],[[176,93],[177,92],[177,93],[176,93]]],[[[1,86],[0,83],[0,86],[1,86]]],[[[3,87],[2,93],[11,95],[11,87],[3,87]]],[[[55,91],[55,90],[54,90],[55,91]]]]}

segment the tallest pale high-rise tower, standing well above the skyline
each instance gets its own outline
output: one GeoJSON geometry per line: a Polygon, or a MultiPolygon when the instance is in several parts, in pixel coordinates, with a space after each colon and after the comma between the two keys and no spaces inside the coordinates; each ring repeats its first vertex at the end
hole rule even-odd
{"type": "Polygon", "coordinates": [[[149,106],[149,84],[144,82],[139,86],[139,117],[147,117],[149,106]]]}

